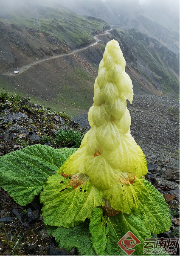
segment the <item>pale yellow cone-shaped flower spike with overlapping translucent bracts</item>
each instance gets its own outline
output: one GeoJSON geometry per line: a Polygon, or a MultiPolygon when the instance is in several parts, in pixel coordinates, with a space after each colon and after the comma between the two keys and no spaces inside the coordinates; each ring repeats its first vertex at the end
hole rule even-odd
{"type": "Polygon", "coordinates": [[[131,117],[126,100],[132,103],[133,90],[125,64],[118,42],[108,42],[94,85],[94,104],[89,110],[91,129],[79,150],[58,172],[76,175],[75,180],[79,176],[82,183],[83,173],[84,182],[88,178],[100,189],[113,209],[130,213],[135,210],[140,189],[138,179],[146,175],[147,165],[130,134],[131,117]]]}

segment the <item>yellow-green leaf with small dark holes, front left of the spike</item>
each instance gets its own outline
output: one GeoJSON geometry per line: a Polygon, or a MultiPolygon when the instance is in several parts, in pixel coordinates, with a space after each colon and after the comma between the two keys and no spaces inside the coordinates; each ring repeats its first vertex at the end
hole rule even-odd
{"type": "Polygon", "coordinates": [[[68,177],[58,173],[45,183],[40,197],[45,224],[66,228],[79,225],[102,204],[101,192],[90,180],[76,188],[69,183],[68,177]]]}

